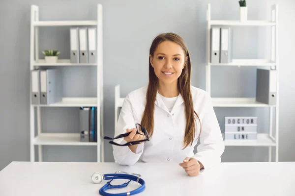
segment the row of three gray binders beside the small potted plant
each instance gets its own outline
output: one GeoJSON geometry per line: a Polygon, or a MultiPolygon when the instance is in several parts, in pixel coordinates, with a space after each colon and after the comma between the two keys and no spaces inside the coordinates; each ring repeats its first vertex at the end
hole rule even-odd
{"type": "Polygon", "coordinates": [[[96,63],[96,28],[70,28],[70,62],[96,63]]]}

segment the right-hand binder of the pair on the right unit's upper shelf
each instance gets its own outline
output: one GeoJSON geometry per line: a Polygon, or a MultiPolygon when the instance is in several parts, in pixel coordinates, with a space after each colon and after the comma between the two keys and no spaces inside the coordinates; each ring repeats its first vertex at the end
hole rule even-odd
{"type": "Polygon", "coordinates": [[[220,63],[231,63],[233,59],[232,28],[222,27],[220,33],[220,63]]]}

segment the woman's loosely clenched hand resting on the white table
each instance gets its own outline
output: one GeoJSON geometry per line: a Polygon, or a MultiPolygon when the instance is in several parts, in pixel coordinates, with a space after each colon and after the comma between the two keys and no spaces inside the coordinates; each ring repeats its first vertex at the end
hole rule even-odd
{"type": "Polygon", "coordinates": [[[200,169],[203,168],[202,163],[197,159],[189,157],[186,157],[183,163],[179,163],[179,166],[181,166],[189,176],[199,175],[200,169]]]}

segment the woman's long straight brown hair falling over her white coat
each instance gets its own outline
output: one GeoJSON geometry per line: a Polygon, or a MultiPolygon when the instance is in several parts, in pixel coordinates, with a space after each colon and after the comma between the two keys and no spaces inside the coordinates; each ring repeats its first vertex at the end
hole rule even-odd
{"type": "MultiPolygon", "coordinates": [[[[187,49],[186,44],[183,39],[175,33],[162,33],[159,34],[152,42],[149,54],[153,57],[154,51],[158,47],[158,45],[164,41],[172,41],[178,44],[184,51],[185,57],[185,66],[182,70],[182,73],[178,77],[177,87],[184,100],[184,109],[185,109],[185,118],[186,118],[186,127],[185,127],[185,136],[183,140],[184,148],[193,144],[195,134],[196,134],[196,117],[198,118],[200,125],[201,121],[199,119],[198,114],[194,110],[193,99],[191,95],[191,60],[190,55],[187,49]]],[[[156,100],[156,94],[158,89],[158,77],[156,76],[153,67],[150,64],[150,59],[148,61],[149,69],[148,69],[148,90],[147,90],[147,104],[145,107],[145,111],[143,114],[143,118],[141,121],[141,125],[146,128],[149,136],[151,137],[153,134],[153,126],[154,126],[154,103],[156,100]]],[[[200,127],[201,134],[201,127],[200,127]]],[[[200,136],[200,135],[199,135],[200,136]]]]}

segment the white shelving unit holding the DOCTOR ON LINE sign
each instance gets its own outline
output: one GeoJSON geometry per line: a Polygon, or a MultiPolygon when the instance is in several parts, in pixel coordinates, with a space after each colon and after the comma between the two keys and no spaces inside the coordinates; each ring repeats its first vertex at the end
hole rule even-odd
{"type": "MultiPolygon", "coordinates": [[[[257,102],[256,98],[212,98],[214,107],[269,107],[269,133],[258,133],[257,140],[232,141],[225,140],[225,146],[252,146],[268,147],[268,161],[272,160],[272,147],[276,148],[275,161],[278,161],[278,81],[279,81],[279,55],[278,55],[278,5],[271,7],[271,21],[222,21],[211,20],[211,5],[207,4],[207,69],[206,69],[206,90],[211,95],[211,66],[266,66],[277,70],[277,101],[276,105],[268,105],[257,102]],[[218,26],[270,26],[271,27],[271,59],[233,59],[232,63],[210,63],[210,29],[212,25],[218,26]],[[273,118],[275,110],[275,118],[273,118]],[[275,126],[273,122],[275,121],[275,126]],[[274,136],[273,136],[274,134],[274,136]]],[[[258,130],[259,131],[259,130],[258,130]]]]}

